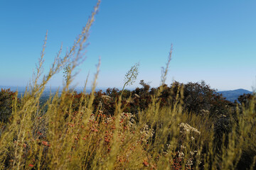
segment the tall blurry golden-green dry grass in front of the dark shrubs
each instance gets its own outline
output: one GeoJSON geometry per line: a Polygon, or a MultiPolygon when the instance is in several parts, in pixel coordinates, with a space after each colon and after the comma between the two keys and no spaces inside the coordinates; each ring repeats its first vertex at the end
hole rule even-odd
{"type": "MultiPolygon", "coordinates": [[[[93,112],[100,62],[92,93],[84,91],[74,109],[75,96],[69,86],[73,70],[83,60],[88,30],[99,5],[100,1],[70,51],[60,58],[60,49],[50,71],[38,83],[45,41],[33,81],[20,98],[21,103],[17,104],[17,97],[14,100],[11,121],[2,130],[1,169],[235,169],[242,151],[256,150],[252,141],[256,132],[255,101],[242,115],[237,113],[238,119],[219,149],[214,142],[212,118],[183,111],[181,87],[176,96],[178,103],[172,107],[160,108],[160,87],[151,96],[149,108],[138,114],[124,113],[120,102],[112,116],[100,107],[93,112]],[[70,69],[61,96],[57,92],[40,107],[46,84],[65,65],[70,69]]],[[[170,61],[171,52],[161,77],[163,85],[170,61]]]]}

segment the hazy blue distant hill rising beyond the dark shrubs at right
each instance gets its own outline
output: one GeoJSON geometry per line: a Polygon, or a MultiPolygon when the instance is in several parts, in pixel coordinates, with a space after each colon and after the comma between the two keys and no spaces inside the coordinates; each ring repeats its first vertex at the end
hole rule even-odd
{"type": "Polygon", "coordinates": [[[252,94],[252,91],[247,91],[245,89],[236,89],[230,91],[218,91],[218,93],[223,94],[227,101],[234,102],[235,100],[238,101],[238,97],[243,94],[252,94]]]}

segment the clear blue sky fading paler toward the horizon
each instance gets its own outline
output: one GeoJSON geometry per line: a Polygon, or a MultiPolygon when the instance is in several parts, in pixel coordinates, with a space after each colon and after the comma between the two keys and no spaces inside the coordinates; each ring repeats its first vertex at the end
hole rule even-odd
{"type": "MultiPolygon", "coordinates": [[[[85,26],[95,0],[0,1],[0,85],[26,86],[48,30],[44,69],[70,47],[85,26]]],[[[171,43],[166,83],[205,80],[218,90],[252,90],[256,76],[256,1],[102,0],[90,30],[87,59],[75,83],[82,86],[102,59],[99,87],[120,87],[140,62],[139,80],[160,84],[171,43]]],[[[62,86],[62,73],[50,81],[62,86]]]]}

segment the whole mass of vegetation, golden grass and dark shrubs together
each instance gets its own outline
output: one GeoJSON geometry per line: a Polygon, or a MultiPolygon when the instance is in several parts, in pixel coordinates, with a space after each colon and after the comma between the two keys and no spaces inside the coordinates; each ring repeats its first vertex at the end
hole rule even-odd
{"type": "Polygon", "coordinates": [[[0,169],[255,169],[255,97],[241,96],[238,105],[204,82],[166,85],[172,50],[158,88],[142,80],[134,91],[95,91],[100,62],[90,94],[69,88],[99,5],[40,83],[46,41],[26,93],[1,91],[0,169]],[[46,84],[63,67],[61,95],[42,105],[46,84]]]}

